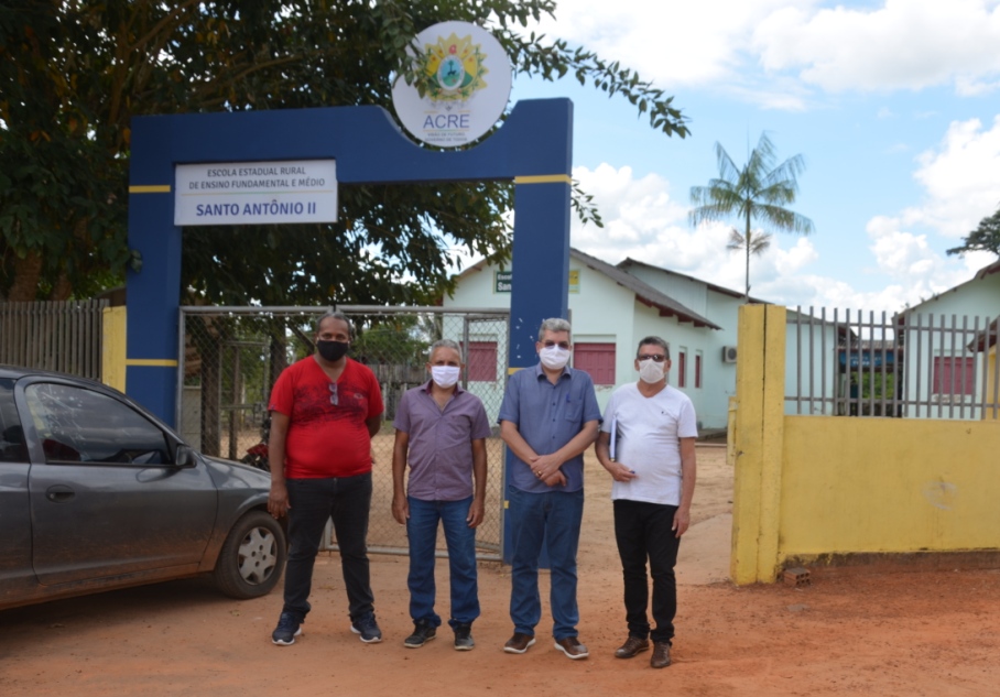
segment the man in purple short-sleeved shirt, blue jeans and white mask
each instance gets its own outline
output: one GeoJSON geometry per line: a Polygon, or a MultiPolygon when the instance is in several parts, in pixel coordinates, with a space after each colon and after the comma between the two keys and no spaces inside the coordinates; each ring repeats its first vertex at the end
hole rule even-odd
{"type": "Polygon", "coordinates": [[[490,424],[482,402],[458,386],[461,353],[450,339],[431,347],[431,380],[406,391],[393,426],[392,515],[410,538],[410,617],[413,634],[403,645],[419,649],[434,639],[441,617],[434,611],[437,525],[445,530],[452,574],[455,650],[469,651],[479,617],[476,526],[486,498],[486,438],[490,424]],[[410,481],[403,475],[410,462],[410,481]],[[475,476],[475,494],[474,494],[475,476]]]}

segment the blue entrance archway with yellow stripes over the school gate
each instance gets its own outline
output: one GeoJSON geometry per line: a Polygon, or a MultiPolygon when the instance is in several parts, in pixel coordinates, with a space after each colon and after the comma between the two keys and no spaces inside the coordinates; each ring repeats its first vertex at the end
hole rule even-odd
{"type": "Polygon", "coordinates": [[[127,392],[174,424],[182,244],[174,167],[202,162],[333,159],[346,185],[513,181],[509,366],[533,364],[542,319],[567,314],[572,126],[568,99],[522,101],[481,144],[441,152],[405,138],[381,107],[133,119],[129,246],[143,264],[128,274],[127,392]]]}

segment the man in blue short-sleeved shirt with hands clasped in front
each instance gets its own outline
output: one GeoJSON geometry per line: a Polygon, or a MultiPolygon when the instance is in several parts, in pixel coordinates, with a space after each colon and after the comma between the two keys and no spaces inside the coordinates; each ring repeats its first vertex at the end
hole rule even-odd
{"type": "Polygon", "coordinates": [[[576,552],[584,513],[584,451],[597,439],[600,407],[587,373],[566,366],[573,345],[569,323],[546,319],[535,350],[540,362],[511,375],[500,406],[500,437],[513,454],[508,488],[513,557],[508,653],[535,643],[542,619],[539,557],[543,542],[552,566],[555,647],[586,658],[576,624],[576,552]]]}

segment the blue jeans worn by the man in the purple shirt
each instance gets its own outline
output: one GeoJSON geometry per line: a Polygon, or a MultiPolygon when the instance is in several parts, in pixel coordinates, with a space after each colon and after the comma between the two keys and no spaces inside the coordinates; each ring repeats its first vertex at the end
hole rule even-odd
{"type": "Polygon", "coordinates": [[[437,523],[444,524],[448,545],[448,570],[452,576],[452,618],[448,624],[471,624],[479,617],[479,586],[476,569],[476,529],[466,516],[472,497],[460,501],[421,501],[407,497],[410,519],[410,617],[414,622],[441,627],[434,611],[434,565],[437,549],[437,523]]]}

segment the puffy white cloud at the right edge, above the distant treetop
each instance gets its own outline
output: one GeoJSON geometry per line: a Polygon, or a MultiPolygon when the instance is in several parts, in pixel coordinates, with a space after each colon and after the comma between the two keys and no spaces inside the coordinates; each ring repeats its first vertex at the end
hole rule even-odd
{"type": "Polygon", "coordinates": [[[978,119],[952,122],[941,146],[917,162],[914,177],[926,199],[904,210],[904,220],[950,239],[965,237],[1000,207],[1000,116],[989,130],[978,119]]]}

